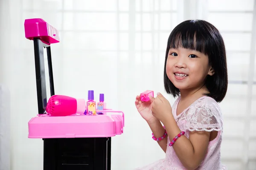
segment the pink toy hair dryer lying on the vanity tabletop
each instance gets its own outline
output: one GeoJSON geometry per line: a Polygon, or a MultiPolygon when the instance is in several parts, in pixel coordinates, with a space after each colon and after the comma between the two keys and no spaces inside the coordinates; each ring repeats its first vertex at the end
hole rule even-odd
{"type": "Polygon", "coordinates": [[[53,95],[48,100],[46,111],[52,116],[84,113],[86,112],[86,102],[84,99],[75,99],[70,96],[53,95]]]}

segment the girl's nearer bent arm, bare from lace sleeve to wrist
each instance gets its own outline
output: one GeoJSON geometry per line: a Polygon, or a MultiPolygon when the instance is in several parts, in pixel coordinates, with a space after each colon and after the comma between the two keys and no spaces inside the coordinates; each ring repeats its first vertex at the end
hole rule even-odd
{"type": "MultiPolygon", "coordinates": [[[[164,126],[169,135],[170,140],[175,138],[180,133],[180,128],[177,126],[175,119],[168,119],[164,126]]],[[[173,149],[181,163],[188,170],[195,170],[203,161],[209,144],[210,132],[193,131],[189,133],[189,139],[186,136],[181,136],[173,144],[173,149]]],[[[169,144],[168,144],[168,147],[169,144]]]]}

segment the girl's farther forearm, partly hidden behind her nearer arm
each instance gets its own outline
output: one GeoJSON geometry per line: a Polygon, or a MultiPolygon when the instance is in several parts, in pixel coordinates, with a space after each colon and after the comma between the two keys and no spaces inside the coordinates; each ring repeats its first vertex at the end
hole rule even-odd
{"type": "MultiPolygon", "coordinates": [[[[158,119],[154,119],[151,122],[148,122],[148,125],[156,138],[160,138],[165,133],[165,129],[158,119]]],[[[167,149],[167,137],[168,136],[166,135],[165,138],[157,142],[165,153],[167,149]]]]}

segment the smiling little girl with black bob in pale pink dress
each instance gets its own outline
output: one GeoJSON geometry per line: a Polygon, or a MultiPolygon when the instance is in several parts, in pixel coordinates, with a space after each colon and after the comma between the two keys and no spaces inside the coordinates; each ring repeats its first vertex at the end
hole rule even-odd
{"type": "Polygon", "coordinates": [[[169,36],[164,87],[177,97],[171,107],[160,93],[135,105],[166,158],[137,170],[227,170],[221,164],[221,102],[227,92],[227,61],[218,29],[187,20],[169,36]],[[164,126],[162,126],[161,122],[164,126]]]}

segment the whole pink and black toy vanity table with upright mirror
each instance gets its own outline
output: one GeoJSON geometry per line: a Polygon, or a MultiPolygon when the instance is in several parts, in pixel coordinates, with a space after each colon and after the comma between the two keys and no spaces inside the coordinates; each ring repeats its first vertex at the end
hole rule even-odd
{"type": "Polygon", "coordinates": [[[27,19],[25,37],[34,42],[38,114],[30,119],[29,138],[44,141],[44,170],[110,170],[111,137],[121,135],[122,111],[116,114],[51,116],[47,106],[44,48],[47,49],[50,93],[54,95],[50,45],[59,42],[58,30],[42,19],[27,19]]]}

